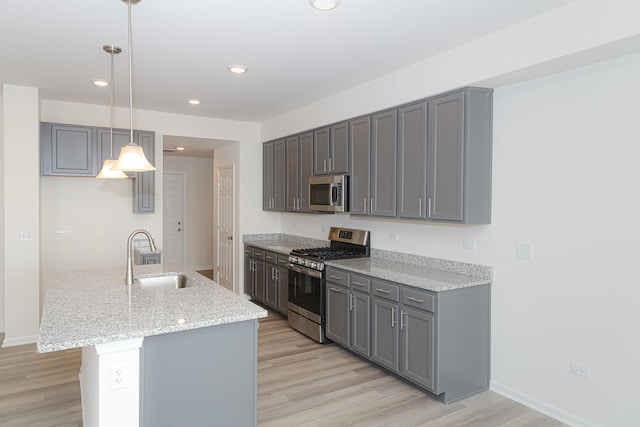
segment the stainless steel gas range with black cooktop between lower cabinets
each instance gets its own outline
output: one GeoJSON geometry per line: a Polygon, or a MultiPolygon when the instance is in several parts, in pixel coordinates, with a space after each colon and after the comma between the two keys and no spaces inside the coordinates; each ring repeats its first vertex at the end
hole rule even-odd
{"type": "Polygon", "coordinates": [[[289,254],[289,326],[313,338],[326,341],[325,261],[368,257],[369,232],[331,227],[329,246],[294,249],[289,254]]]}

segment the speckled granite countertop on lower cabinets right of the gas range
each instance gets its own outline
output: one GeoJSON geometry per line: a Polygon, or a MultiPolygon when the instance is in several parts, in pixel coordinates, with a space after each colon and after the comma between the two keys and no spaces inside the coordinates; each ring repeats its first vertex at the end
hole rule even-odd
{"type": "Polygon", "coordinates": [[[381,258],[345,259],[327,261],[325,264],[331,267],[337,267],[343,270],[434,292],[450,291],[491,283],[491,278],[475,277],[381,258]]]}

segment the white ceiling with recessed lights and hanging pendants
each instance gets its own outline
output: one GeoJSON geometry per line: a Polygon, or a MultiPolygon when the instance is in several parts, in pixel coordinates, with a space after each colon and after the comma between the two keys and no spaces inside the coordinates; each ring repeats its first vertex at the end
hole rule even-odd
{"type": "MultiPolygon", "coordinates": [[[[134,107],[261,122],[569,0],[142,0],[132,6],[134,107]],[[245,75],[230,74],[244,64],[245,75]],[[198,98],[199,106],[187,104],[198,98]]],[[[127,5],[121,0],[3,1],[0,82],[41,98],[128,106],[127,5]]]]}

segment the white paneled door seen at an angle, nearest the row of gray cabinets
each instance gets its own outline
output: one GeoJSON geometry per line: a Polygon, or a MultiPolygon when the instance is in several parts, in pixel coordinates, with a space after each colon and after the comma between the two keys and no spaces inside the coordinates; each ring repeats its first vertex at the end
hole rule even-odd
{"type": "Polygon", "coordinates": [[[234,167],[218,169],[218,276],[217,282],[227,289],[233,286],[234,167]]]}

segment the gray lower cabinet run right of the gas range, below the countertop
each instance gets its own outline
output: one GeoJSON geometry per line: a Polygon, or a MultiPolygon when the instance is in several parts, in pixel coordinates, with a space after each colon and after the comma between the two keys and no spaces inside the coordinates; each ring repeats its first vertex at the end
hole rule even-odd
{"type": "Polygon", "coordinates": [[[445,403],[489,388],[489,285],[431,292],[335,267],[327,268],[327,277],[329,272],[351,277],[350,288],[327,284],[327,336],[333,341],[445,403]],[[360,322],[368,318],[367,327],[354,320],[355,307],[360,322]],[[370,354],[363,350],[367,337],[370,354]]]}

